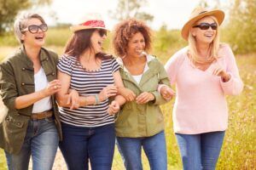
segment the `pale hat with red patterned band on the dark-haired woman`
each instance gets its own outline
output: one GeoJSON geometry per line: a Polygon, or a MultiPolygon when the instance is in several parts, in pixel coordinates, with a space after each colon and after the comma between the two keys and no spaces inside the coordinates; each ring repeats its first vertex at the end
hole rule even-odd
{"type": "Polygon", "coordinates": [[[103,29],[109,31],[105,26],[104,20],[102,20],[101,14],[86,14],[78,25],[70,27],[70,30],[73,32],[88,29],[103,29]]]}

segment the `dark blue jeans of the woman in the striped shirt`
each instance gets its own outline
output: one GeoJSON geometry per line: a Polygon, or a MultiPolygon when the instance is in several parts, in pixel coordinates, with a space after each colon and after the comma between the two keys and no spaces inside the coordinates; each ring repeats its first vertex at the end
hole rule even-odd
{"type": "Polygon", "coordinates": [[[114,152],[114,126],[76,127],[61,123],[60,149],[69,170],[110,170],[114,152]]]}

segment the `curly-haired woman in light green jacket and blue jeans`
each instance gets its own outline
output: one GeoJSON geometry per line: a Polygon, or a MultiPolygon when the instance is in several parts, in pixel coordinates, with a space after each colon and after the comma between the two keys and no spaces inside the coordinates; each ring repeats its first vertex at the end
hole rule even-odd
{"type": "Polygon", "coordinates": [[[125,20],[116,26],[113,47],[119,55],[120,74],[125,88],[119,93],[126,103],[119,111],[115,131],[126,169],[143,169],[142,148],[151,169],[167,169],[164,117],[160,105],[168,101],[157,91],[169,86],[164,66],[147,54],[151,47],[148,26],[139,20],[125,20]]]}

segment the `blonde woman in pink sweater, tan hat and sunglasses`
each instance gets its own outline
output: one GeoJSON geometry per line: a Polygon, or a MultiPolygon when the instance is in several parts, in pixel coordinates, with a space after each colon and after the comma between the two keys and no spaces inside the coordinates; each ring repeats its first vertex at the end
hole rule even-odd
{"type": "MultiPolygon", "coordinates": [[[[243,83],[230,47],[219,42],[221,10],[195,8],[183,26],[189,46],[179,50],[165,65],[176,85],[173,125],[183,169],[215,169],[228,126],[225,95],[240,94],[243,83]]],[[[163,97],[172,94],[161,87],[163,97]]]]}

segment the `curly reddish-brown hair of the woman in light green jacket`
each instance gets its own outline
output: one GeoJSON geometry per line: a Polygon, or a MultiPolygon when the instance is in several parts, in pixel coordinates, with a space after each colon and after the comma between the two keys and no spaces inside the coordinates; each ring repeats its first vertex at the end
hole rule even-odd
{"type": "Polygon", "coordinates": [[[115,54],[125,56],[127,52],[128,42],[137,32],[141,32],[145,39],[145,50],[148,52],[151,48],[151,30],[141,20],[124,20],[120,22],[114,30],[113,34],[113,48],[115,54]]]}

